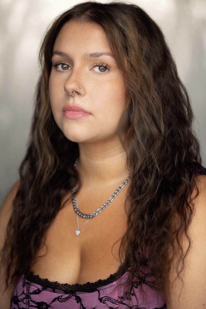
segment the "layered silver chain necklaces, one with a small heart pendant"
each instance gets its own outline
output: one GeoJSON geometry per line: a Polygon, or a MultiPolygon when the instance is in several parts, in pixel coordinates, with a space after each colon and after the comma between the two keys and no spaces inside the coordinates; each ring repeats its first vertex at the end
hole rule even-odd
{"type": "MultiPolygon", "coordinates": [[[[74,167],[77,166],[77,162],[78,159],[75,160],[74,163],[74,167]]],[[[116,191],[112,194],[112,196],[108,199],[108,201],[106,201],[106,203],[104,203],[100,208],[98,208],[97,210],[95,210],[92,214],[83,214],[77,207],[77,200],[75,197],[75,187],[73,189],[71,189],[71,193],[72,193],[72,203],[73,203],[73,207],[74,210],[76,212],[76,216],[77,216],[77,230],[75,231],[75,234],[78,236],[80,234],[80,229],[85,226],[85,224],[92,218],[95,218],[95,216],[97,216],[102,210],[104,210],[112,201],[113,199],[117,196],[117,194],[121,191],[121,189],[124,188],[125,184],[128,183],[128,181],[130,180],[130,177],[128,177],[126,180],[124,180],[124,182],[122,184],[120,184],[120,186],[116,189],[116,191]],[[81,226],[79,227],[79,221],[78,221],[78,216],[82,217],[82,218],[88,218],[88,220],[81,226]]]]}

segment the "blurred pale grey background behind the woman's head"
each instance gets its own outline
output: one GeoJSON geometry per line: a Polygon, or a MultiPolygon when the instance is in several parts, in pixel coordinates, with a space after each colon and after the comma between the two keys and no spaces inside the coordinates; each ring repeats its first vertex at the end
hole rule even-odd
{"type": "MultiPolygon", "coordinates": [[[[0,0],[0,204],[19,179],[27,147],[44,33],[76,0],[0,0]]],[[[99,2],[106,3],[110,1],[99,2]]],[[[202,165],[206,167],[206,1],[133,0],[164,33],[195,114],[202,165]]]]}

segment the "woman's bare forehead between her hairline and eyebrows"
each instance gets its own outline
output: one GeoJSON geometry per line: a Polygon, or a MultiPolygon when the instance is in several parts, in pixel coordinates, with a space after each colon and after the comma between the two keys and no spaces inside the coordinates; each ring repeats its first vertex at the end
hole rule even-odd
{"type": "Polygon", "coordinates": [[[103,28],[94,22],[80,23],[70,20],[61,28],[54,44],[55,49],[78,50],[107,49],[111,51],[103,28]]]}

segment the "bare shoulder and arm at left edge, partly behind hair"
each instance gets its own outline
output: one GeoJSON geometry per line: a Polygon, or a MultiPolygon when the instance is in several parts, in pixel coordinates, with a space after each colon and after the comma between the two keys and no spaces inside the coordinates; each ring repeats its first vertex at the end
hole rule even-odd
{"type": "MultiPolygon", "coordinates": [[[[12,203],[19,189],[20,180],[17,181],[7,193],[5,200],[0,208],[0,252],[2,251],[5,241],[6,227],[12,214],[12,203]]],[[[13,287],[8,288],[5,292],[5,269],[0,269],[0,308],[9,309],[13,287]]]]}

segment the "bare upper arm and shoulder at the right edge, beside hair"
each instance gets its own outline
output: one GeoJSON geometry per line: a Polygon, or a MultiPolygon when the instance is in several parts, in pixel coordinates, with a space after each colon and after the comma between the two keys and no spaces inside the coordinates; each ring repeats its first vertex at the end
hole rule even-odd
{"type": "MultiPolygon", "coordinates": [[[[191,247],[184,260],[184,269],[176,275],[176,262],[173,261],[166,287],[167,309],[199,309],[206,307],[206,175],[195,177],[199,195],[192,197],[195,206],[188,234],[191,247]]],[[[187,249],[188,240],[183,238],[183,249],[187,249]]]]}

